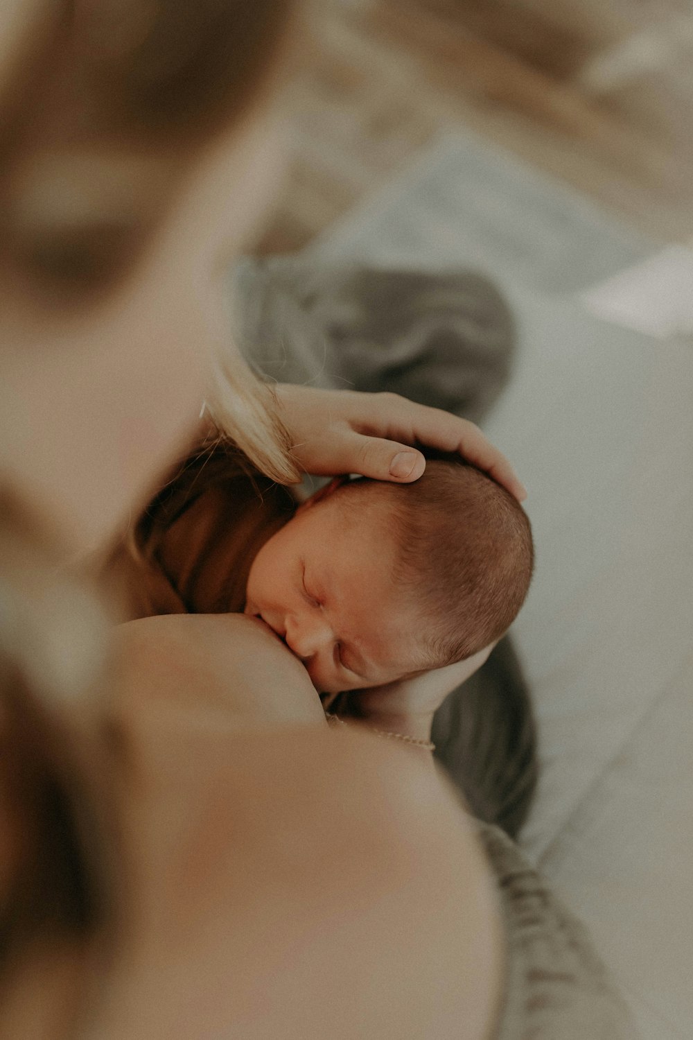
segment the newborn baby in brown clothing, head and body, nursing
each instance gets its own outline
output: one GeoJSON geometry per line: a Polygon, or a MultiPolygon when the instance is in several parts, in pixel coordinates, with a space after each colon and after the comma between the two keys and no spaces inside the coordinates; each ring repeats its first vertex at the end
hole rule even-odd
{"type": "Polygon", "coordinates": [[[519,610],[532,565],[522,506],[458,460],[430,460],[410,485],[336,480],[299,505],[216,448],[166,485],[110,570],[129,617],[244,610],[332,694],[481,650],[519,610]]]}

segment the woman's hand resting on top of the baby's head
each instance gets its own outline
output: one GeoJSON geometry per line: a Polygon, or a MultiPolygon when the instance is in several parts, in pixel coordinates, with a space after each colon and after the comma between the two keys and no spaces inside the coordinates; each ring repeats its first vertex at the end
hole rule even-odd
{"type": "Polygon", "coordinates": [[[418,479],[426,460],[416,444],[456,451],[517,498],[527,492],[508,460],[478,426],[398,394],[318,390],[278,384],[279,415],[306,473],[361,473],[378,480],[418,479]]]}

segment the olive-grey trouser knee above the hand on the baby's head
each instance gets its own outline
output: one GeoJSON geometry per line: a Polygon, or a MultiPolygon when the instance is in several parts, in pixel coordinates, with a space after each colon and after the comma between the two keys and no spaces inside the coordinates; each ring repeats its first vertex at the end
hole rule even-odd
{"type": "Polygon", "coordinates": [[[286,383],[390,390],[478,422],[506,382],[510,312],[486,278],[243,260],[241,349],[286,383]]]}

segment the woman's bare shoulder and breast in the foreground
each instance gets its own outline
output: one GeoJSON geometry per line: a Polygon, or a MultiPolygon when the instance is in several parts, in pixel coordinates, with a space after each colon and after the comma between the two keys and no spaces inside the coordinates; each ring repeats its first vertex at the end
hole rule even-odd
{"type": "Polygon", "coordinates": [[[100,1040],[485,1038],[501,925],[428,756],[329,731],[302,667],[247,618],[131,622],[116,659],[109,973],[75,1009],[88,950],[34,951],[9,965],[0,1035],[54,1040],[77,1015],[100,1040]]]}

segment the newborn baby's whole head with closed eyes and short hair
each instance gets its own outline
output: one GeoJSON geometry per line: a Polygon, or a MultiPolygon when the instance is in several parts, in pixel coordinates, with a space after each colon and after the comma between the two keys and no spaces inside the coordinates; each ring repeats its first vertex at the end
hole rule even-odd
{"type": "Polygon", "coordinates": [[[414,484],[352,480],[262,547],[246,614],[320,693],[381,685],[470,657],[505,632],[532,576],[522,506],[472,466],[429,461],[414,484]]]}

